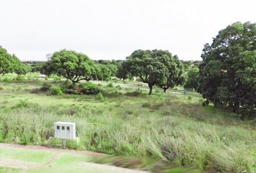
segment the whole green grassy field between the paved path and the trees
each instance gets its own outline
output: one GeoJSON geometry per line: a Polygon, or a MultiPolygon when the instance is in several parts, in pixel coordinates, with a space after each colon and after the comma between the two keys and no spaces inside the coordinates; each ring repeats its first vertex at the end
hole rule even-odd
{"type": "Polygon", "coordinates": [[[54,136],[53,123],[71,121],[77,124],[80,144],[70,148],[161,159],[213,172],[255,170],[255,122],[241,121],[212,105],[202,107],[200,94],[184,95],[176,88],[166,93],[154,89],[148,96],[145,84],[123,81],[93,81],[103,92],[101,100],[31,93],[43,82],[54,83],[0,82],[1,142],[53,146],[56,141],[48,141],[54,136]],[[107,86],[110,82],[112,87],[107,86]]]}

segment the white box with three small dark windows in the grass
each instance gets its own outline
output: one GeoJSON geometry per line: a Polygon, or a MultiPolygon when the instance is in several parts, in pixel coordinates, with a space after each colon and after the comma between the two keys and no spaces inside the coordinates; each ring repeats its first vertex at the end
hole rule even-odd
{"type": "Polygon", "coordinates": [[[56,122],[54,123],[54,138],[76,140],[75,123],[56,122]]]}

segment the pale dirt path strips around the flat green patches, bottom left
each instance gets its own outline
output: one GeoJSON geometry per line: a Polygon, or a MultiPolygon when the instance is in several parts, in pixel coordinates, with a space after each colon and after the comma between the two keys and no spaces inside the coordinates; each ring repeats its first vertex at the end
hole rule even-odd
{"type": "MultiPolygon", "coordinates": [[[[11,143],[0,143],[0,147],[8,147],[8,148],[24,148],[24,149],[32,149],[32,150],[39,150],[39,151],[53,151],[55,152],[54,156],[51,157],[49,161],[46,162],[46,164],[36,164],[33,162],[28,161],[17,161],[12,159],[0,159],[0,165],[5,167],[19,167],[23,169],[40,169],[43,167],[51,167],[51,164],[56,161],[56,159],[59,158],[59,156],[62,153],[68,153],[68,154],[78,154],[83,156],[106,156],[106,154],[99,154],[95,152],[90,151],[76,151],[76,150],[69,150],[69,149],[62,149],[62,148],[49,148],[46,146],[24,146],[24,145],[18,145],[18,144],[11,144],[11,143]]],[[[82,167],[88,167],[91,169],[102,169],[109,172],[116,172],[116,173],[146,173],[135,169],[126,169],[121,167],[115,167],[112,165],[106,165],[106,164],[95,164],[91,162],[81,161],[79,163],[82,167]]]]}

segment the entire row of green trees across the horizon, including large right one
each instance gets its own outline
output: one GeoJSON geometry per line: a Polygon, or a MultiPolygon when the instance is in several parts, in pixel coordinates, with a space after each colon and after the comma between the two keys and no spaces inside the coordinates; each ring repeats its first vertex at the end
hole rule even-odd
{"type": "Polygon", "coordinates": [[[21,63],[0,48],[0,74],[38,71],[56,74],[72,81],[137,79],[149,87],[166,89],[182,85],[205,98],[204,105],[231,109],[244,117],[256,115],[256,24],[236,22],[218,32],[206,43],[202,61],[180,61],[168,50],[135,50],[126,60],[93,61],[74,50],[56,51],[48,61],[21,63]],[[29,65],[29,66],[28,66],[29,65]]]}

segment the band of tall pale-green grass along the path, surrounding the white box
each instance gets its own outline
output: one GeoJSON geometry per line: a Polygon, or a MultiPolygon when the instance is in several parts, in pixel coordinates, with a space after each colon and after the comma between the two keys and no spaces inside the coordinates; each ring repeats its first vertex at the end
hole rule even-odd
{"type": "MultiPolygon", "coordinates": [[[[150,106],[143,107],[144,111],[150,111],[154,104],[159,106],[159,103],[150,101],[150,106]]],[[[48,138],[54,136],[54,122],[72,121],[77,123],[80,149],[148,156],[218,172],[249,172],[254,169],[256,136],[247,128],[218,125],[185,116],[158,115],[158,112],[148,115],[136,107],[131,110],[129,106],[116,112],[69,107],[72,109],[72,114],[61,106],[43,108],[32,105],[1,110],[0,140],[47,144],[48,138]]]]}

